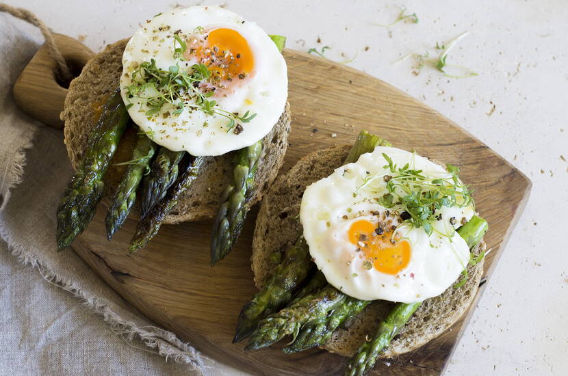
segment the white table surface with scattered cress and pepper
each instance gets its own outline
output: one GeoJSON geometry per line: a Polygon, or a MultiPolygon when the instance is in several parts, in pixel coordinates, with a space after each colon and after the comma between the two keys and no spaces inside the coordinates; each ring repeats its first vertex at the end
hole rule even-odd
{"type": "MultiPolygon", "coordinates": [[[[219,5],[287,36],[287,47],[330,46],[329,58],[408,92],[511,161],[534,184],[517,228],[446,369],[450,375],[568,372],[568,3],[564,0],[415,1],[419,23],[385,28],[396,1],[6,1],[99,51],[176,5],[219,5]],[[448,62],[478,72],[452,79],[409,53],[464,31],[448,62]],[[321,43],[317,41],[321,40],[321,43]],[[367,49],[368,47],[368,49],[367,49]],[[341,54],[344,54],[343,56],[341,54]],[[493,110],[494,108],[494,110],[493,110]],[[563,156],[563,157],[561,157],[563,156]]],[[[474,182],[472,182],[474,183],[474,182]]],[[[96,358],[96,354],[92,354],[96,358]]],[[[162,368],[164,371],[164,368],[162,368]]]]}

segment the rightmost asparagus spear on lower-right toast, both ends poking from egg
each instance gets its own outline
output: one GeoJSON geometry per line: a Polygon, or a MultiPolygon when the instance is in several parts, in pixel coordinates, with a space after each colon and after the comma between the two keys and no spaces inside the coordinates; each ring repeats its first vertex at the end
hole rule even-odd
{"type": "MultiPolygon", "coordinates": [[[[457,231],[460,236],[465,239],[469,249],[474,248],[487,232],[487,221],[476,215],[469,219],[467,224],[461,226],[457,231]]],[[[377,356],[385,349],[400,328],[406,325],[406,322],[412,317],[412,314],[422,304],[417,303],[397,303],[389,312],[385,321],[378,325],[378,330],[374,338],[370,342],[365,342],[353,358],[348,362],[345,370],[347,376],[363,376],[373,368],[377,356]]]]}

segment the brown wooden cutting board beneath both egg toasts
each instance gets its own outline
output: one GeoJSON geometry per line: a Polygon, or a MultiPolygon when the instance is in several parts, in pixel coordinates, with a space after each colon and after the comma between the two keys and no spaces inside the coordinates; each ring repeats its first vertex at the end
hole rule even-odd
{"type": "MultiPolygon", "coordinates": [[[[57,36],[57,43],[76,68],[92,55],[72,38],[57,36]]],[[[454,122],[391,85],[306,53],[287,50],[284,55],[292,133],[281,171],[313,150],[351,144],[361,129],[400,148],[415,148],[419,154],[458,165],[463,180],[475,188],[478,211],[489,221],[489,277],[524,209],[530,180],[454,122]]],[[[65,92],[53,79],[53,62],[42,48],[16,83],[14,98],[31,116],[62,126],[58,114],[65,92]],[[38,108],[37,103],[45,105],[38,108]]],[[[249,215],[233,253],[213,268],[211,221],[162,226],[144,250],[128,254],[135,221],[128,220],[108,242],[105,210],[99,208],[73,249],[133,307],[212,358],[261,375],[341,374],[346,359],[319,349],[284,355],[277,347],[245,352],[244,343],[231,343],[237,315],[256,293],[249,261],[256,212],[255,208],[249,215]]],[[[424,347],[389,360],[389,365],[377,362],[373,374],[439,375],[471,312],[424,347]]]]}

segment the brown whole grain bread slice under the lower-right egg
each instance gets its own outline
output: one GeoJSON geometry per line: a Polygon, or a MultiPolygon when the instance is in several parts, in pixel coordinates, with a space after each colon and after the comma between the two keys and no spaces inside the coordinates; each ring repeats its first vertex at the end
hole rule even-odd
{"type": "MultiPolygon", "coordinates": [[[[333,173],[344,164],[350,146],[337,146],[312,152],[300,159],[287,173],[279,176],[270,191],[263,197],[253,238],[252,268],[255,284],[262,286],[270,278],[278,257],[274,252],[296,241],[302,234],[298,215],[305,187],[333,173]]],[[[485,250],[482,241],[474,253],[485,250]]],[[[483,273],[483,263],[469,266],[469,279],[460,288],[450,286],[437,297],[426,299],[413,314],[381,358],[400,355],[424,345],[452,326],[467,310],[476,295],[483,273]]],[[[365,336],[372,338],[376,328],[393,303],[374,301],[354,318],[348,329],[338,329],[324,349],[340,355],[352,356],[365,336]]]]}

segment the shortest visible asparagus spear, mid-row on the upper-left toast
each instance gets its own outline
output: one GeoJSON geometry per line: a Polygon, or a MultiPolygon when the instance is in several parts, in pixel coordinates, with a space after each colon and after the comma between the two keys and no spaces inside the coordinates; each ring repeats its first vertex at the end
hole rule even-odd
{"type": "Polygon", "coordinates": [[[144,178],[142,184],[142,217],[146,217],[151,209],[164,196],[168,188],[177,179],[178,164],[185,155],[185,151],[172,152],[168,148],[160,148],[154,161],[150,174],[144,178]]]}

